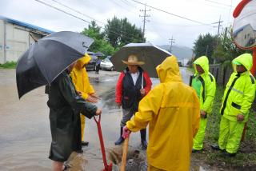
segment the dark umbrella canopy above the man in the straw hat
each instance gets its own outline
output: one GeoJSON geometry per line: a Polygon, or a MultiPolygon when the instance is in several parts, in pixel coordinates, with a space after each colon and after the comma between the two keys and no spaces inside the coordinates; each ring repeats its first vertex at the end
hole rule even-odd
{"type": "Polygon", "coordinates": [[[168,51],[162,50],[150,42],[129,43],[126,46],[123,46],[121,50],[118,50],[118,52],[110,58],[115,70],[122,72],[122,70],[126,68],[126,64],[124,64],[122,60],[127,61],[127,58],[131,54],[136,55],[138,61],[145,62],[145,64],[142,65],[142,69],[146,70],[151,78],[158,78],[155,68],[162,63],[166,57],[171,56],[168,51]]]}

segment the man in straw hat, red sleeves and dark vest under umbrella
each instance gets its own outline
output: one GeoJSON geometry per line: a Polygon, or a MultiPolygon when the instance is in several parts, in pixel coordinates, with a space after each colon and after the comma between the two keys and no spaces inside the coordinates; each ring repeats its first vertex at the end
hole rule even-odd
{"type": "MultiPolygon", "coordinates": [[[[122,106],[122,121],[120,123],[120,137],[114,142],[115,145],[120,145],[124,141],[122,128],[126,125],[126,121],[130,121],[130,118],[138,111],[138,102],[149,93],[152,85],[149,74],[140,67],[144,62],[138,61],[137,56],[130,55],[127,62],[122,62],[127,67],[120,74],[116,85],[115,101],[118,107],[122,106]]],[[[142,129],[140,132],[142,149],[146,149],[146,129],[142,129]]]]}

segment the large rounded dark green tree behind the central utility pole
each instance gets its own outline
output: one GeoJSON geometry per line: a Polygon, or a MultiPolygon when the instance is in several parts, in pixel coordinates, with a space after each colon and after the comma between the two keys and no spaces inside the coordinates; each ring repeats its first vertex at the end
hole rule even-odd
{"type": "Polygon", "coordinates": [[[105,26],[106,40],[114,48],[120,48],[130,42],[145,42],[142,30],[128,22],[127,18],[118,19],[114,16],[105,26]]]}

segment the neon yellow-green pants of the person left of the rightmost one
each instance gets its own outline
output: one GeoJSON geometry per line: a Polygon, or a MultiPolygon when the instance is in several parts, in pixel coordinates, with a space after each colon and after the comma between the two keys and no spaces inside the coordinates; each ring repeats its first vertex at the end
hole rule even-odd
{"type": "Polygon", "coordinates": [[[206,135],[207,118],[200,118],[198,133],[193,139],[193,149],[201,150],[206,135]]]}

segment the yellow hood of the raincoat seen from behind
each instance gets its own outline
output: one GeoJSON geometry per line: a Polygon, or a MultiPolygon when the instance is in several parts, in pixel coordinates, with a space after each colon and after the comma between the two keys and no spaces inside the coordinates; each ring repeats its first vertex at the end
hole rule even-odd
{"type": "Polygon", "coordinates": [[[177,58],[172,55],[167,57],[160,65],[156,67],[160,82],[182,82],[179,73],[177,58]]]}

